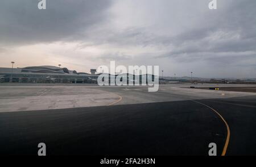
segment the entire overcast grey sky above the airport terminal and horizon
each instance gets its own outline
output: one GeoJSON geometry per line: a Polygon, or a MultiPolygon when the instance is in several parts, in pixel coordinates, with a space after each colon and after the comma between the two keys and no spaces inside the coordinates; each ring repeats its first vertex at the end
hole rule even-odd
{"type": "Polygon", "coordinates": [[[165,76],[256,78],[256,1],[0,2],[0,67],[159,65],[165,76]]]}

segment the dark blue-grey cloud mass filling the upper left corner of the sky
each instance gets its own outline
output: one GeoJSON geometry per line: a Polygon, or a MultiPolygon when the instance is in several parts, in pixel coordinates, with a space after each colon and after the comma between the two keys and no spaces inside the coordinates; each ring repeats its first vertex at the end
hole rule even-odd
{"type": "Polygon", "coordinates": [[[46,10],[36,0],[3,0],[0,4],[0,42],[27,44],[76,40],[80,33],[103,22],[110,0],[46,0],[46,10]]]}

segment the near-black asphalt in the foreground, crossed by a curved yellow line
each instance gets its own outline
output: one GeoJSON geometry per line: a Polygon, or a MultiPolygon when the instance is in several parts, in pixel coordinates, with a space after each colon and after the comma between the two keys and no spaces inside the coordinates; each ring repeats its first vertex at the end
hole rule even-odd
{"type": "MultiPolygon", "coordinates": [[[[136,96],[136,95],[135,95],[136,96]]],[[[256,155],[256,96],[197,99],[228,122],[226,155],[256,155]]],[[[220,155],[226,127],[220,117],[191,100],[88,108],[0,113],[0,154],[220,155]]]]}

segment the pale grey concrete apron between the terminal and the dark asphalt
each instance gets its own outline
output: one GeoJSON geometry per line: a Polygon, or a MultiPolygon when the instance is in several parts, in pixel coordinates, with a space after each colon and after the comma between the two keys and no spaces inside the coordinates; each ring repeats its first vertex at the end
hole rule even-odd
{"type": "MultiPolygon", "coordinates": [[[[250,92],[191,89],[191,84],[160,85],[157,92],[148,87],[100,87],[92,84],[0,84],[0,112],[82,108],[110,104],[142,104],[150,102],[196,99],[226,99],[256,95],[250,92]],[[187,88],[185,88],[187,87],[187,88]],[[122,98],[121,101],[119,101],[122,98]],[[118,101],[118,102],[117,102],[118,101]]],[[[212,87],[214,84],[198,86],[212,87]]],[[[221,84],[227,86],[227,84],[221,84]]],[[[229,84],[230,86],[230,84],[229,84]]],[[[235,85],[241,87],[240,84],[235,85]]]]}

